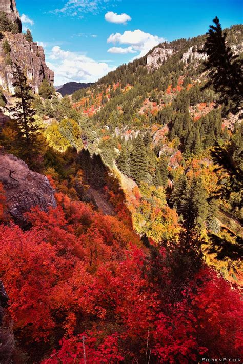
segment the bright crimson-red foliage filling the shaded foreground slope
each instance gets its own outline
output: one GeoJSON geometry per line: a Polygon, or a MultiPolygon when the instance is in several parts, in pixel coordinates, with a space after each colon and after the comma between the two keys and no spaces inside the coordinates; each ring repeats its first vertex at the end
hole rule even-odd
{"type": "Polygon", "coordinates": [[[28,351],[48,341],[45,364],[82,363],[84,346],[87,363],[239,357],[236,287],[204,267],[174,287],[166,249],[153,247],[154,260],[116,216],[56,197],[56,209],[28,214],[29,231],[0,226],[0,278],[16,337],[28,351]]]}

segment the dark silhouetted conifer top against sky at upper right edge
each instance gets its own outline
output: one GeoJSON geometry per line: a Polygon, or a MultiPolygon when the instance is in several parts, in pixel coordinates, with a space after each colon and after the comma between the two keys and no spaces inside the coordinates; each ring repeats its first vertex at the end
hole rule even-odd
{"type": "Polygon", "coordinates": [[[226,46],[226,32],[222,33],[217,16],[213,23],[201,50],[208,55],[204,66],[209,71],[209,80],[204,88],[212,85],[216,92],[221,93],[221,101],[228,104],[230,99],[237,111],[243,100],[242,61],[226,46]]]}

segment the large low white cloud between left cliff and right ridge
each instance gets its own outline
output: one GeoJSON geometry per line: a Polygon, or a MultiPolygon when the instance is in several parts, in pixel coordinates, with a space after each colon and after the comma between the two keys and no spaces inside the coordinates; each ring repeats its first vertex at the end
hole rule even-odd
{"type": "Polygon", "coordinates": [[[95,82],[114,70],[105,62],[97,62],[84,54],[64,51],[59,46],[52,48],[48,56],[50,67],[55,73],[55,85],[66,82],[95,82]]]}

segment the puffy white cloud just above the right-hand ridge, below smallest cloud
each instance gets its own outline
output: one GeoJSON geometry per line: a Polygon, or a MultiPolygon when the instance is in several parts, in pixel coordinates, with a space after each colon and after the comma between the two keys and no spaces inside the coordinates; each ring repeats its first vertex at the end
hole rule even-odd
{"type": "MultiPolygon", "coordinates": [[[[122,52],[118,51],[119,53],[134,53],[139,52],[137,57],[143,57],[148,51],[157,46],[159,43],[164,42],[165,39],[161,38],[157,35],[152,35],[150,33],[145,33],[140,29],[136,29],[134,31],[126,30],[123,34],[121,33],[113,33],[109,36],[107,39],[107,43],[119,43],[119,44],[126,44],[128,45],[130,51],[122,52]],[[132,50],[132,51],[131,51],[132,50]]],[[[118,49],[121,47],[113,47],[113,49],[118,49]]],[[[128,48],[121,48],[127,50],[128,48]]],[[[112,48],[110,48],[112,49],[112,48]]],[[[115,53],[110,52],[110,49],[108,49],[109,53],[115,53]]]]}

